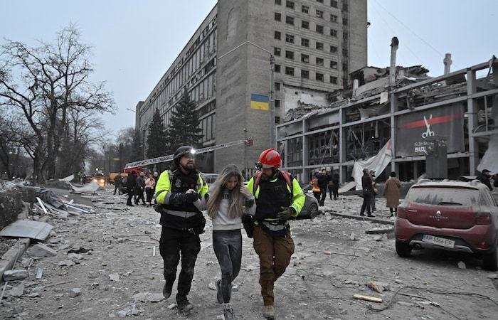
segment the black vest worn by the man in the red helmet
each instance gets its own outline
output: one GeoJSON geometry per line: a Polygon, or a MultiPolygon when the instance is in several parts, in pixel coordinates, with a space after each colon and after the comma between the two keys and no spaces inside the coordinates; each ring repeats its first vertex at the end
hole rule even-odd
{"type": "Polygon", "coordinates": [[[281,207],[291,205],[292,193],[287,186],[287,181],[281,174],[278,175],[277,181],[260,181],[255,220],[277,219],[277,213],[282,211],[281,207]]]}

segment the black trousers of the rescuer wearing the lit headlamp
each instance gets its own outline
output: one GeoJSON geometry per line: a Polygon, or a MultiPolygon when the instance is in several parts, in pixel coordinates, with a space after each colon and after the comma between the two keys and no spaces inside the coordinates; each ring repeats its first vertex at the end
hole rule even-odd
{"type": "Polygon", "coordinates": [[[176,279],[176,269],[180,262],[181,271],[178,277],[178,293],[176,302],[186,302],[190,292],[194,267],[198,252],[201,251],[201,240],[198,235],[189,231],[176,230],[162,227],[159,252],[164,262],[164,279],[167,284],[172,284],[176,279]]]}

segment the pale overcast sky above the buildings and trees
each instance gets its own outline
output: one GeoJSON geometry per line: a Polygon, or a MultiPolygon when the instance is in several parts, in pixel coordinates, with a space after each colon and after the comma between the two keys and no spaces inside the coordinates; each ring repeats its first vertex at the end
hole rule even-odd
{"type": "MultiPolygon", "coordinates": [[[[93,80],[107,81],[113,92],[117,112],[103,119],[117,132],[134,126],[126,108],[147,97],[215,4],[0,0],[0,37],[35,44],[75,23],[93,47],[93,80]]],[[[389,64],[393,36],[400,41],[398,65],[422,64],[430,75],[443,73],[445,53],[452,53],[452,70],[489,60],[498,54],[497,13],[496,0],[369,0],[369,65],[389,64]]]]}

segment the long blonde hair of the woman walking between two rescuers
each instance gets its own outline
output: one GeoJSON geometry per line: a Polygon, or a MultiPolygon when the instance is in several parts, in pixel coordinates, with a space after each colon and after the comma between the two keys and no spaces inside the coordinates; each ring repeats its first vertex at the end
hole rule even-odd
{"type": "Polygon", "coordinates": [[[207,203],[208,215],[211,218],[215,218],[218,214],[225,185],[233,176],[237,179],[237,186],[231,191],[231,197],[228,200],[228,216],[232,219],[242,216],[245,196],[240,193],[240,186],[244,183],[244,177],[235,164],[228,164],[221,170],[218,178],[216,178],[213,186],[211,186],[211,194],[207,203]]]}

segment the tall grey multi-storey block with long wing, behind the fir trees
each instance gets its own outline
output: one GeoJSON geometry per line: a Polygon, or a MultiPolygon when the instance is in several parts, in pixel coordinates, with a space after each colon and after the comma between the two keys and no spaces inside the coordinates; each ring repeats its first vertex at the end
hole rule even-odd
{"type": "Polygon", "coordinates": [[[156,109],[168,126],[188,90],[201,114],[202,146],[254,139],[204,156],[202,169],[233,163],[249,174],[270,146],[270,112],[251,107],[252,97],[273,90],[277,124],[302,103],[326,106],[327,93],[349,86],[349,73],[366,65],[366,27],[366,0],[219,0],[137,107],[136,127],[147,137],[156,109]]]}

